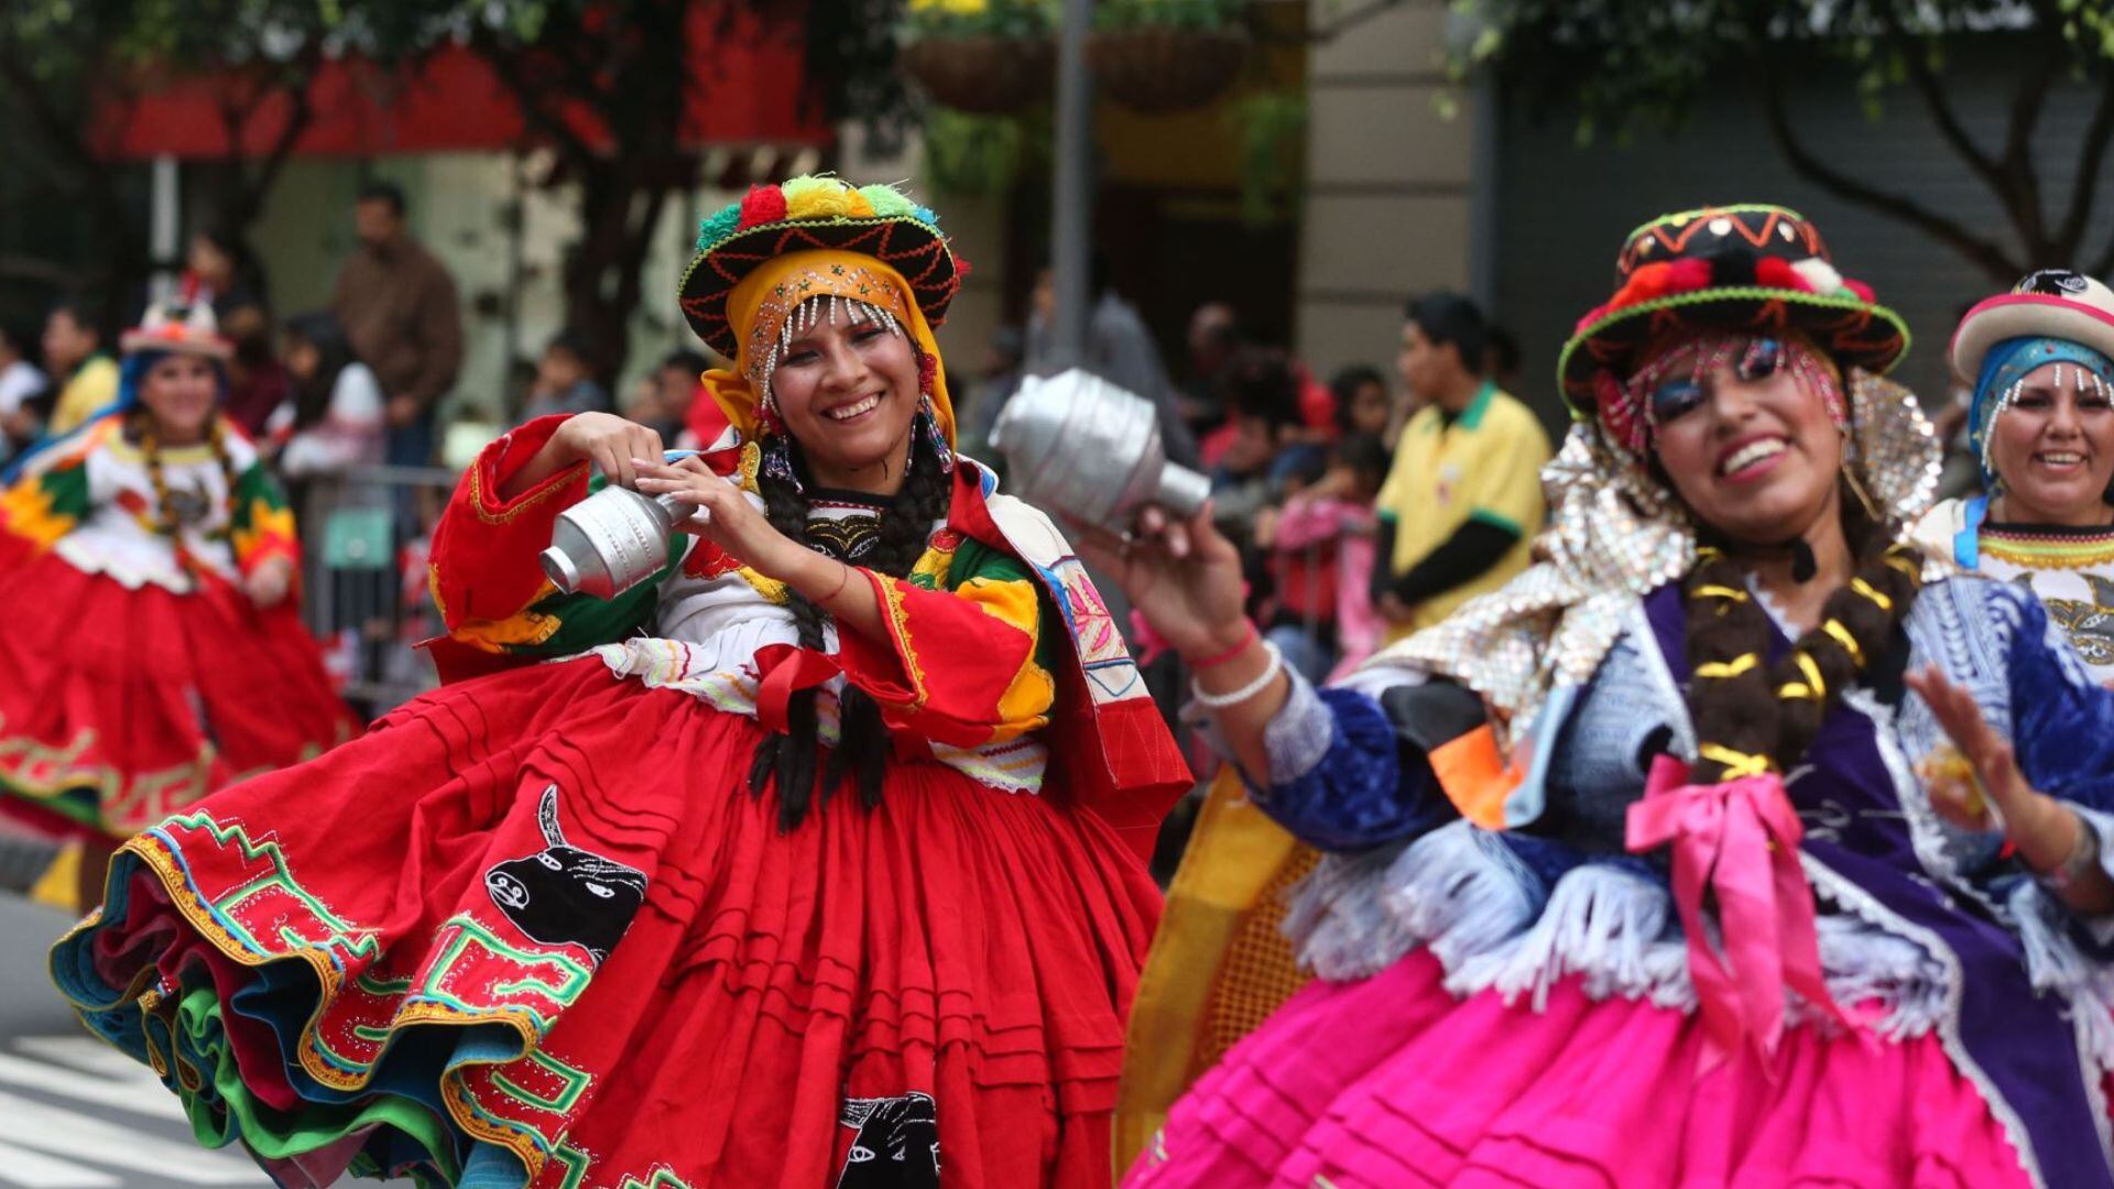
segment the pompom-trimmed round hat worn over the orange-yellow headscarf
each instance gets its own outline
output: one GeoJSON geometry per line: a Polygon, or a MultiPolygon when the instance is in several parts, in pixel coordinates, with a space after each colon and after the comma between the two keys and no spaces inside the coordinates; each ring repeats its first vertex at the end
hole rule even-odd
{"type": "Polygon", "coordinates": [[[801,176],[753,186],[748,197],[698,224],[698,256],[683,273],[683,317],[704,345],[736,358],[727,294],[763,260],[814,248],[841,248],[882,260],[911,286],[926,322],[939,326],[962,288],[966,264],[953,256],[939,216],[892,186],[852,186],[801,176]]]}

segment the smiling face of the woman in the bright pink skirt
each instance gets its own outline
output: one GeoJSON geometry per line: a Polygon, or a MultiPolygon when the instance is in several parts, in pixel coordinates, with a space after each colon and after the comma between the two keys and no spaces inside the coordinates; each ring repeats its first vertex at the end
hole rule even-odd
{"type": "Polygon", "coordinates": [[[1799,383],[1782,345],[1693,374],[1676,345],[1647,394],[1666,478],[1704,525],[1733,542],[1782,544],[1835,512],[1843,436],[1799,383]]]}

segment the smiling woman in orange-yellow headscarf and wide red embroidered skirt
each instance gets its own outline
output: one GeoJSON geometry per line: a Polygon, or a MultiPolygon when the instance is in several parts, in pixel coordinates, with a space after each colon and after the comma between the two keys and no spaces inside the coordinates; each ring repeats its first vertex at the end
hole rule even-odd
{"type": "Polygon", "coordinates": [[[281,1185],[1108,1185],[1188,772],[1063,537],[953,455],[956,288],[884,186],[706,220],[734,429],[486,449],[433,546],[461,679],[127,844],[55,950],[87,1022],[281,1185]],[[598,482],[702,510],[607,601],[537,565],[598,482]]]}

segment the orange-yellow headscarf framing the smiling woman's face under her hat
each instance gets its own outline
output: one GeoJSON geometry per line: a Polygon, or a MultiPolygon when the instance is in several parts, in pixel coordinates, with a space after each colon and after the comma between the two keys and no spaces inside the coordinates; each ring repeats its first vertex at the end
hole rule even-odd
{"type": "Polygon", "coordinates": [[[727,322],[734,326],[740,353],[734,368],[712,368],[704,372],[704,389],[712,394],[727,421],[742,434],[742,440],[757,438],[759,404],[769,377],[763,368],[778,332],[793,311],[818,296],[841,296],[867,303],[894,315],[896,324],[909,330],[911,343],[932,355],[932,419],[953,446],[953,402],[947,398],[947,370],[939,366],[939,343],[932,341],[932,326],[911,300],[911,286],[882,260],[865,252],[843,252],[818,248],[812,252],[789,252],[774,256],[757,271],[742,277],[727,294],[727,322]]]}

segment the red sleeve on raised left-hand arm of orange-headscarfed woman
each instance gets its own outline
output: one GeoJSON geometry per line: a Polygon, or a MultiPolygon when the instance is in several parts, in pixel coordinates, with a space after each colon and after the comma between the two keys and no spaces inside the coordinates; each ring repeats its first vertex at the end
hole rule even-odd
{"type": "Polygon", "coordinates": [[[499,438],[455,484],[433,529],[433,599],[448,630],[499,624],[524,614],[545,590],[537,554],[552,525],[588,495],[588,463],[575,463],[514,499],[499,491],[550,442],[564,417],[535,421],[499,438]]]}

